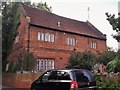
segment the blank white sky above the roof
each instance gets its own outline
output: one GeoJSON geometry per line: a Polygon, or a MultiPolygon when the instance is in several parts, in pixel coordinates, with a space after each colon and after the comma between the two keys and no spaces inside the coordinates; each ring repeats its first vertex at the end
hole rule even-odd
{"type": "Polygon", "coordinates": [[[52,7],[52,12],[67,18],[79,21],[89,21],[103,34],[107,35],[107,46],[118,48],[118,43],[112,34],[116,34],[112,30],[112,26],[106,20],[106,12],[118,16],[118,2],[120,0],[31,0],[32,2],[46,2],[52,7]]]}

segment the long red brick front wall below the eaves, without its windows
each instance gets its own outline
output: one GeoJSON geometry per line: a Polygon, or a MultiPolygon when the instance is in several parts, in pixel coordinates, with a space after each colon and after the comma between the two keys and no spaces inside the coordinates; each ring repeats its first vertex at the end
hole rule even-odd
{"type": "Polygon", "coordinates": [[[83,37],[64,32],[48,30],[45,28],[38,28],[31,26],[30,28],[30,51],[34,52],[36,57],[39,58],[53,58],[55,60],[55,68],[64,68],[68,62],[70,53],[76,49],[77,52],[91,50],[93,52],[105,51],[106,41],[94,38],[83,37]],[[38,32],[48,32],[55,34],[55,42],[44,42],[38,40],[38,32]],[[67,45],[67,37],[73,37],[77,40],[76,45],[67,45]],[[89,39],[89,42],[88,42],[89,39]],[[97,43],[96,49],[91,49],[90,42],[97,43]]]}

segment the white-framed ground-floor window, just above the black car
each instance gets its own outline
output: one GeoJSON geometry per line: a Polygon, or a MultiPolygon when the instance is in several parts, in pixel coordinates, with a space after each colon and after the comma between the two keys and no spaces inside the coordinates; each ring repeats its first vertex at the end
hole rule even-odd
{"type": "Polygon", "coordinates": [[[37,70],[38,71],[47,71],[54,69],[54,60],[53,59],[38,59],[37,60],[37,70]]]}

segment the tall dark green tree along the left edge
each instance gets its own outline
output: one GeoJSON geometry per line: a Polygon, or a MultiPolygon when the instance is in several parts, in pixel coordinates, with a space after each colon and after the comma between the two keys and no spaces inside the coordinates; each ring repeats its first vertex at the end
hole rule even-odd
{"type": "Polygon", "coordinates": [[[19,15],[17,12],[18,3],[2,2],[2,66],[6,67],[6,59],[10,54],[13,41],[17,35],[19,15]]]}

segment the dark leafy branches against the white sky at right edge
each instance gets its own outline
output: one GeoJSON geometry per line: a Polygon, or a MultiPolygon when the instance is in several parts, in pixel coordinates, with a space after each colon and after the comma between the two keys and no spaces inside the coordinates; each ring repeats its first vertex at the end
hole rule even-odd
{"type": "MultiPolygon", "coordinates": [[[[118,13],[118,15],[120,15],[120,13],[118,13]]],[[[117,32],[116,35],[113,35],[113,38],[115,38],[118,42],[120,42],[120,17],[115,18],[115,14],[111,15],[106,13],[107,16],[107,20],[109,21],[109,23],[112,25],[113,30],[115,30],[117,32]]]]}

